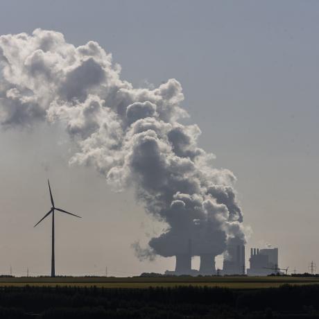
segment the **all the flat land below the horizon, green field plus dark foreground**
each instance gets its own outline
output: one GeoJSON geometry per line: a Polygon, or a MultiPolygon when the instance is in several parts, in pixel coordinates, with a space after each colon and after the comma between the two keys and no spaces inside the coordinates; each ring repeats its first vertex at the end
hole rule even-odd
{"type": "Polygon", "coordinates": [[[25,277],[1,281],[0,318],[319,319],[319,282],[313,277],[25,277]]]}

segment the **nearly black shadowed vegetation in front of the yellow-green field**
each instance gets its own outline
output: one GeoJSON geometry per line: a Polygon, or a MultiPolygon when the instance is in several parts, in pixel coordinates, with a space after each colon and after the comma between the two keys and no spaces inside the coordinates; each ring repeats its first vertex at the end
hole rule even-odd
{"type": "Polygon", "coordinates": [[[319,318],[319,285],[264,289],[2,287],[0,318],[319,318]]]}

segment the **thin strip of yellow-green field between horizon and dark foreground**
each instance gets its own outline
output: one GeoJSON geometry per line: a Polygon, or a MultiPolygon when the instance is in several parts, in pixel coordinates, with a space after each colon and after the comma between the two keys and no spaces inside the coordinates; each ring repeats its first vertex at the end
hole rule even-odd
{"type": "Polygon", "coordinates": [[[3,286],[97,286],[104,288],[148,288],[209,286],[227,288],[270,288],[283,284],[319,284],[316,277],[10,277],[0,278],[3,286]]]}

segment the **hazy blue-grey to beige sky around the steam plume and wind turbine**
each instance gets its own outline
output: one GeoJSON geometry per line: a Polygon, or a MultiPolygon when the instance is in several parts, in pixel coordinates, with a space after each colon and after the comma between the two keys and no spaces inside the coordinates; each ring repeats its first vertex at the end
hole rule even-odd
{"type": "MultiPolygon", "coordinates": [[[[1,1],[0,34],[60,31],[98,42],[142,87],[176,78],[189,122],[215,165],[238,178],[250,247],[279,248],[279,266],[318,262],[318,1],[1,1]]],[[[131,243],[162,226],[130,192],[114,193],[93,169],[68,165],[55,126],[0,133],[0,273],[50,270],[55,202],[83,216],[56,218],[56,272],[135,275],[173,269],[139,261],[131,243]]],[[[58,214],[57,214],[58,215],[58,214]]],[[[193,266],[198,265],[194,259],[193,266]]],[[[221,266],[219,262],[218,266],[221,266]]]]}

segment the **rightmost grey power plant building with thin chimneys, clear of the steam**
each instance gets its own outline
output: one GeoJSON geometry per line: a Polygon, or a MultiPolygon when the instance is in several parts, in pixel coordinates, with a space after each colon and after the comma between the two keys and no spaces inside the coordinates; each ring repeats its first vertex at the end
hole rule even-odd
{"type": "Polygon", "coordinates": [[[250,268],[247,275],[266,276],[277,273],[278,269],[278,248],[251,248],[250,268]]]}

